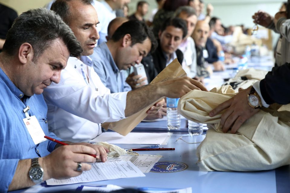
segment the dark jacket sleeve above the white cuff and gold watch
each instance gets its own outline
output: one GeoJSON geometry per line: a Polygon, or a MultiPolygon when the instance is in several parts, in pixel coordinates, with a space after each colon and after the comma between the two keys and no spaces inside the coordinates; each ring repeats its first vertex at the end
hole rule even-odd
{"type": "Polygon", "coordinates": [[[273,67],[260,81],[260,90],[267,104],[290,103],[290,64],[273,67]]]}

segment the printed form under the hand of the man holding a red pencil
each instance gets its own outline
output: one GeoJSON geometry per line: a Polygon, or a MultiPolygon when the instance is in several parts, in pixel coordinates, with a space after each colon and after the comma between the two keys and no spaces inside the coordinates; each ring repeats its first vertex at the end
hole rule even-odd
{"type": "Polygon", "coordinates": [[[47,185],[66,185],[83,182],[95,182],[119,178],[144,177],[145,175],[130,161],[93,163],[92,169],[81,175],[65,180],[49,179],[47,185]]]}

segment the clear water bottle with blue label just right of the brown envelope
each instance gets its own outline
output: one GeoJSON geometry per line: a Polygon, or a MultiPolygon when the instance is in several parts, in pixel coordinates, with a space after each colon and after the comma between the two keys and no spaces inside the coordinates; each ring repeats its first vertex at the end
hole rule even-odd
{"type": "Polygon", "coordinates": [[[166,98],[167,128],[168,130],[180,128],[180,114],[177,112],[178,99],[166,98]]]}

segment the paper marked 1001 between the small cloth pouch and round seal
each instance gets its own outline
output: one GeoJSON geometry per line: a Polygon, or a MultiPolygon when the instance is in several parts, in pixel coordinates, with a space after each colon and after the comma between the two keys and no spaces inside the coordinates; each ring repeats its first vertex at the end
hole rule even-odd
{"type": "Polygon", "coordinates": [[[128,160],[139,168],[141,172],[149,173],[151,168],[160,158],[162,158],[162,155],[121,155],[119,157],[108,158],[107,162],[128,160]]]}

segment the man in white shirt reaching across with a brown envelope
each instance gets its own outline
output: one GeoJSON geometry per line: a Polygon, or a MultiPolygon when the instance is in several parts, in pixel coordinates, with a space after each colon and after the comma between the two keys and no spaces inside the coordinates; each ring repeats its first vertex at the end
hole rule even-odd
{"type": "MultiPolygon", "coordinates": [[[[57,0],[51,7],[69,24],[83,52],[80,59],[70,57],[60,83],[51,84],[43,92],[50,131],[73,142],[89,141],[101,134],[99,123],[124,119],[162,96],[178,98],[193,89],[206,90],[201,83],[185,77],[110,94],[87,57],[93,53],[99,38],[98,16],[90,3],[90,0],[57,0]]],[[[130,39],[124,42],[127,43],[131,43],[130,39]]],[[[163,101],[156,103],[147,113],[156,113],[162,105],[163,101]]]]}

